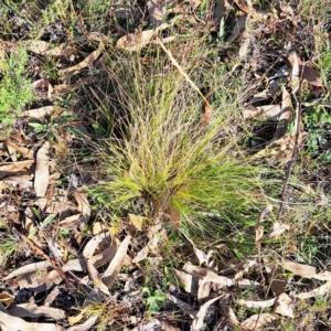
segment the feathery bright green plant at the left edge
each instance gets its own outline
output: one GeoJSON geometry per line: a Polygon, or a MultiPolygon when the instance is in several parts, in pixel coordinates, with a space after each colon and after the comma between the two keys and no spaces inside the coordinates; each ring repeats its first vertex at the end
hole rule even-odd
{"type": "Polygon", "coordinates": [[[32,102],[30,79],[24,77],[28,63],[26,52],[18,47],[9,58],[0,52],[0,125],[4,129],[14,121],[21,108],[32,102]]]}

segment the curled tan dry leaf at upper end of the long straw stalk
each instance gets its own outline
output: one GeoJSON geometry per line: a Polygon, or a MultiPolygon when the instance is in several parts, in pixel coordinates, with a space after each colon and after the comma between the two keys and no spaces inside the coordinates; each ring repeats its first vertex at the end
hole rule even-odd
{"type": "Polygon", "coordinates": [[[146,30],[137,33],[129,33],[122,38],[120,38],[115,49],[116,50],[126,50],[129,52],[140,51],[145,47],[151,39],[159,32],[169,26],[168,23],[163,23],[154,30],[146,30]]]}

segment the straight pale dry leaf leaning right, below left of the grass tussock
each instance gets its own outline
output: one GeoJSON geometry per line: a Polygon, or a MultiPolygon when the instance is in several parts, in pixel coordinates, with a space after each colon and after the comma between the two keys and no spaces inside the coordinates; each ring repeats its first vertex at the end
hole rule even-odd
{"type": "Polygon", "coordinates": [[[104,284],[106,284],[107,287],[109,287],[114,282],[117,275],[119,274],[124,260],[127,256],[127,250],[130,242],[131,242],[131,236],[127,235],[126,238],[122,241],[122,243],[119,245],[111,263],[109,264],[108,268],[103,275],[103,281],[104,284]]]}

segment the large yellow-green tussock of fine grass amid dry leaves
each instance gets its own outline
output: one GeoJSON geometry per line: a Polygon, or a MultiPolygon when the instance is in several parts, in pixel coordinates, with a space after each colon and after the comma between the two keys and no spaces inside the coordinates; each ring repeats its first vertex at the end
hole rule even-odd
{"type": "Polygon", "coordinates": [[[222,86],[211,82],[217,75],[206,76],[210,64],[204,68],[197,49],[191,51],[183,70],[201,89],[209,78],[218,97],[207,122],[201,120],[202,97],[167,56],[158,53],[148,65],[132,55],[122,66],[109,62],[111,92],[105,98],[113,129],[102,158],[110,179],[94,192],[117,212],[132,210],[142,197],[150,218],[171,209],[182,228],[211,231],[206,224],[213,215],[241,216],[256,207],[259,170],[247,163],[227,130],[235,103],[226,95],[220,102],[222,86]]]}

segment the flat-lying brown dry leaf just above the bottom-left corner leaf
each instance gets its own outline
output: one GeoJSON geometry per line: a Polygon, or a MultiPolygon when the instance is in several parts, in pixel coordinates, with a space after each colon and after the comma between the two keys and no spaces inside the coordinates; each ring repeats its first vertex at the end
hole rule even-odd
{"type": "Polygon", "coordinates": [[[17,305],[15,307],[8,309],[8,312],[11,316],[20,318],[38,318],[40,316],[44,316],[50,319],[62,320],[66,317],[65,311],[62,309],[45,306],[36,306],[31,302],[17,305]]]}

